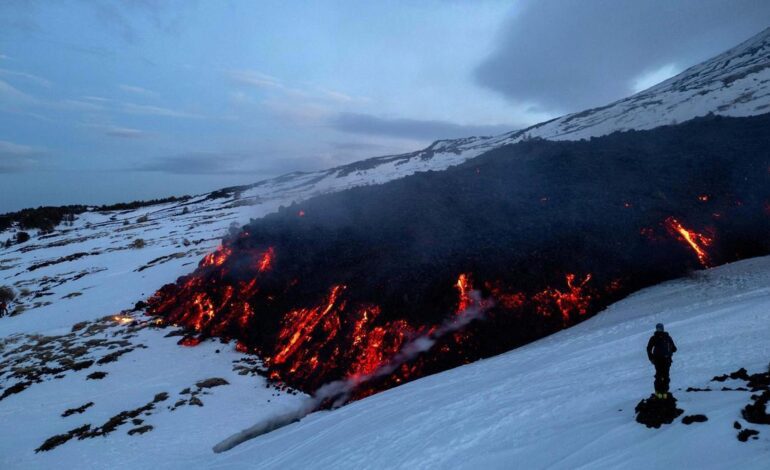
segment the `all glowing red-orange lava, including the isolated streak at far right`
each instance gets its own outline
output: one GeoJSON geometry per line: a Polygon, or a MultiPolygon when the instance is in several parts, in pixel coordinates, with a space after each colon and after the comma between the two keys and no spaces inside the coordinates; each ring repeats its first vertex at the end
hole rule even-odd
{"type": "MultiPolygon", "coordinates": [[[[706,249],[713,238],[674,217],[663,225],[710,266],[706,249]]],[[[431,278],[415,309],[406,294],[403,300],[381,289],[361,294],[367,281],[360,276],[326,287],[303,280],[297,257],[282,254],[244,232],[204,257],[195,272],[159,290],[148,313],[186,329],[182,345],[210,337],[236,340],[237,350],[263,359],[274,381],[309,393],[331,382],[355,383],[359,389],[350,396],[360,398],[569,327],[625,289],[606,274],[597,283],[590,273],[554,273],[522,289],[512,279],[461,272],[454,281],[431,278]],[[473,309],[481,314],[467,317],[473,309]],[[404,353],[421,339],[431,347],[404,353]]]]}

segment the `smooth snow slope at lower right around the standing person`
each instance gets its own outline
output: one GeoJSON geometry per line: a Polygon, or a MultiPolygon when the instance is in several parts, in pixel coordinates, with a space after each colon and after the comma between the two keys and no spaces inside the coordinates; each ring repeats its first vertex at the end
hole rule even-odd
{"type": "MultiPolygon", "coordinates": [[[[770,362],[770,258],[639,292],[569,330],[388,390],[236,447],[217,468],[767,468],[770,434],[741,443],[750,392],[687,393],[770,362]],[[685,414],[634,421],[652,390],[645,346],[657,322],[679,352],[672,391],[685,414]],[[680,389],[682,389],[680,391],[680,389]]],[[[719,384],[720,387],[722,384],[719,384]]],[[[720,388],[714,387],[714,388],[720,388]]],[[[757,428],[757,426],[749,426],[757,428]]]]}

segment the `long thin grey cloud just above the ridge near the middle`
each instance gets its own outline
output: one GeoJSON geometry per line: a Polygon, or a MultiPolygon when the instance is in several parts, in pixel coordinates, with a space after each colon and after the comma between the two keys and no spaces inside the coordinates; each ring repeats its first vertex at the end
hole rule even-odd
{"type": "Polygon", "coordinates": [[[496,135],[515,129],[511,125],[465,126],[448,121],[383,118],[370,114],[339,113],[329,120],[338,131],[407,139],[438,140],[474,135],[496,135]]]}

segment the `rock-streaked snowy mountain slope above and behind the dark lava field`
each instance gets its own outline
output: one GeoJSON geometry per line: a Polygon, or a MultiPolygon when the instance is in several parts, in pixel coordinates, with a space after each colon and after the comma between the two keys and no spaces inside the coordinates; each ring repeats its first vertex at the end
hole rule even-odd
{"type": "MultiPolygon", "coordinates": [[[[766,29],[649,90],[529,129],[496,137],[437,141],[409,154],[377,157],[318,172],[288,174],[248,187],[198,196],[185,203],[86,213],[73,227],[59,227],[45,241],[0,247],[0,284],[12,284],[32,293],[23,301],[27,314],[4,319],[0,322],[0,333],[40,331],[37,319],[30,318],[31,311],[45,315],[47,321],[52,322],[46,327],[54,328],[124,309],[188,272],[200,256],[217,246],[229,224],[244,224],[281,205],[351,187],[384,183],[419,171],[443,170],[528,137],[570,140],[620,129],[649,129],[708,113],[762,114],[770,111],[769,87],[770,29],[766,29]],[[185,209],[187,212],[183,212],[185,209]],[[149,215],[149,221],[136,223],[145,214],[149,215]],[[147,247],[129,250],[127,245],[134,238],[145,239],[147,247]],[[193,244],[185,246],[184,239],[193,244]],[[77,253],[89,255],[62,261],[77,253]],[[138,271],[153,261],[150,269],[138,271]],[[49,262],[57,264],[30,271],[49,262]],[[46,279],[55,281],[38,289],[46,279]],[[117,285],[120,289],[115,288],[117,285]],[[76,296],[66,297],[71,294],[76,296]],[[54,299],[57,302],[49,304],[54,299]],[[61,308],[65,311],[61,312],[61,308]]],[[[3,235],[10,237],[12,232],[5,231],[3,235]]]]}

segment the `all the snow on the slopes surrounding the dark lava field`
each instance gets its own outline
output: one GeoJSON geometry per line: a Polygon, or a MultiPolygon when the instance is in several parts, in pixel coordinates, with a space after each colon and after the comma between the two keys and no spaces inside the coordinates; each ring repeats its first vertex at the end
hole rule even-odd
{"type": "MultiPolygon", "coordinates": [[[[26,310],[0,319],[3,361],[31,365],[19,345],[50,335],[62,342],[73,324],[130,309],[163,284],[191,272],[232,223],[245,224],[280,206],[347,188],[381,184],[419,171],[441,171],[527,137],[581,139],[622,129],[648,129],[710,112],[748,116],[770,111],[770,29],[647,91],[602,108],[495,137],[444,140],[413,153],[379,157],[312,173],[265,180],[240,198],[196,196],[131,211],[88,212],[52,236],[0,248],[0,285],[27,289],[26,310]],[[147,215],[147,222],[137,219],[147,215]],[[131,248],[142,238],[144,248],[131,248]],[[185,240],[187,242],[185,242],[185,240]],[[60,258],[87,253],[71,261],[60,258]],[[160,261],[155,261],[158,260],[160,261]],[[61,261],[39,269],[37,264],[61,261]],[[18,335],[18,336],[17,336],[18,335]]],[[[3,239],[11,231],[1,234],[3,239]]],[[[240,375],[244,356],[232,344],[177,345],[168,330],[127,334],[115,322],[94,338],[132,336],[118,361],[46,377],[0,400],[0,468],[767,468],[770,440],[740,443],[732,423],[746,392],[686,393],[714,375],[770,361],[770,258],[744,261],[640,292],[570,330],[524,348],[427,377],[301,422],[215,455],[211,447],[263,419],[301,407],[307,397],[240,375]],[[686,414],[709,421],[649,430],[633,407],[652,387],[644,346],[658,321],[677,345],[672,387],[686,414]],[[220,352],[217,353],[216,350],[220,352]],[[86,380],[95,370],[102,380],[86,380]],[[170,410],[197,381],[229,385],[200,395],[204,406],[170,410]],[[128,436],[72,440],[35,453],[47,438],[170,395],[146,417],[154,429],[128,436]],[[269,401],[268,401],[269,400],[269,401]],[[83,414],[67,408],[93,401],[83,414]],[[618,411],[621,410],[621,411],[618,411]]],[[[109,323],[109,320],[106,320],[109,323]]],[[[58,344],[58,343],[57,343],[58,344]]],[[[91,348],[88,357],[97,359],[91,348]]],[[[0,374],[0,389],[16,382],[0,374]]],[[[0,390],[0,392],[2,392],[0,390]]]]}

